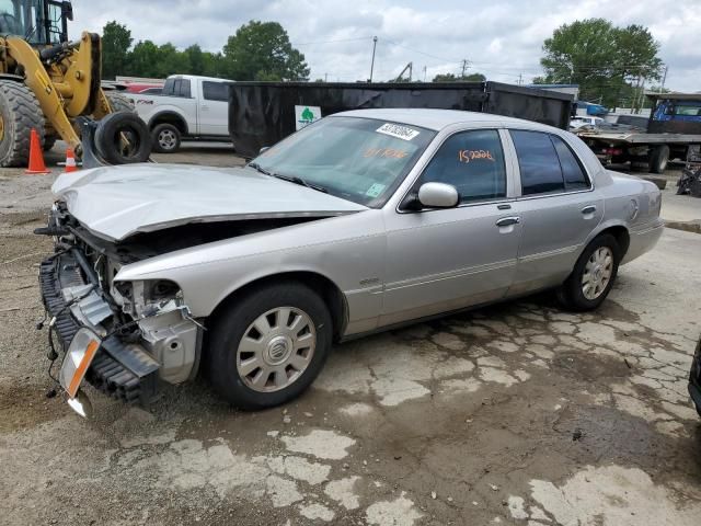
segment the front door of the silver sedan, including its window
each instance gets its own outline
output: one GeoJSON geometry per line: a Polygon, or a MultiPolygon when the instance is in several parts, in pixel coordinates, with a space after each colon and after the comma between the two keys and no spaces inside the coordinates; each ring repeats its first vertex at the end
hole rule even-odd
{"type": "Polygon", "coordinates": [[[509,203],[508,165],[502,132],[458,132],[438,148],[412,192],[427,182],[451,184],[459,205],[386,210],[381,325],[504,297],[515,277],[521,233],[509,203]]]}

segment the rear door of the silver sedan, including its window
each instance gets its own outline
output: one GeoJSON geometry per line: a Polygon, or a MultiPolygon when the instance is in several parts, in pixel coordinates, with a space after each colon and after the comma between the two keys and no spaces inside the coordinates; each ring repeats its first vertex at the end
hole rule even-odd
{"type": "Polygon", "coordinates": [[[559,135],[512,129],[521,195],[514,204],[522,241],[512,294],[561,284],[572,272],[604,202],[575,151],[559,135]]]}

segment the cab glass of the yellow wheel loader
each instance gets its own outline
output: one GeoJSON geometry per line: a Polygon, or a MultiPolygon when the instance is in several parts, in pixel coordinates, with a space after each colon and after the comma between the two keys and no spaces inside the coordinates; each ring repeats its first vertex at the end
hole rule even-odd
{"type": "Polygon", "coordinates": [[[58,44],[62,25],[58,2],[0,0],[0,34],[21,36],[30,44],[58,44]]]}

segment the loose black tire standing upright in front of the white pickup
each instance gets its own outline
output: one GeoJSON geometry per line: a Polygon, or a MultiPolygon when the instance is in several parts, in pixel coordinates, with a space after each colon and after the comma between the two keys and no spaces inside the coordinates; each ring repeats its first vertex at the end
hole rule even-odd
{"type": "Polygon", "coordinates": [[[110,164],[146,162],[151,155],[151,135],[141,117],[136,113],[111,113],[97,125],[95,147],[110,164]],[[123,138],[129,146],[123,148],[123,138]]]}

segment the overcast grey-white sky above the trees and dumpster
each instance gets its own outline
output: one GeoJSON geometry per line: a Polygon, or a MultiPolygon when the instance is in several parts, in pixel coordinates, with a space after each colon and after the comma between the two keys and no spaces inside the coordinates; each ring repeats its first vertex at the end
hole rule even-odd
{"type": "Polygon", "coordinates": [[[368,78],[377,35],[378,80],[397,77],[410,61],[420,80],[459,73],[467,59],[469,72],[515,83],[519,75],[530,82],[541,73],[541,46],[555,27],[602,16],[647,26],[669,68],[666,85],[701,91],[700,8],[701,0],[73,0],[71,33],[116,20],[136,41],[216,52],[241,24],[276,21],[304,54],[312,80],[368,78]]]}

